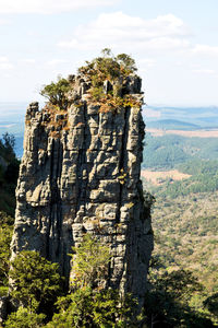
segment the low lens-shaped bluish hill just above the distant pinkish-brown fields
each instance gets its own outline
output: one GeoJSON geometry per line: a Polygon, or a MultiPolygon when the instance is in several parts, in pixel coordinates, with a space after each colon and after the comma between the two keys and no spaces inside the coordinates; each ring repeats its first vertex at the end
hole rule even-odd
{"type": "Polygon", "coordinates": [[[177,119],[160,119],[147,122],[147,128],[164,129],[164,130],[196,130],[199,126],[177,119]]]}

